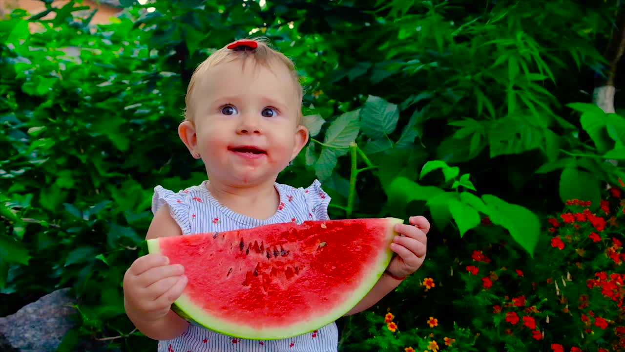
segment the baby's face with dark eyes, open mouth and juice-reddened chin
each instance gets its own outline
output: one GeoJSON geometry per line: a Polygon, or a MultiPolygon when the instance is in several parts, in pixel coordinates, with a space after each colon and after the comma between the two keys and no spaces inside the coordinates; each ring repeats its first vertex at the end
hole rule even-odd
{"type": "Polygon", "coordinates": [[[192,113],[197,152],[211,180],[257,184],[275,180],[307,142],[287,68],[247,60],[221,63],[196,86],[192,113]]]}

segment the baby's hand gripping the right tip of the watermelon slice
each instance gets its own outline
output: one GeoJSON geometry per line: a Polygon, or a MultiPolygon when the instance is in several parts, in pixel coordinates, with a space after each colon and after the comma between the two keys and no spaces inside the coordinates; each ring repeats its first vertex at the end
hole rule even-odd
{"type": "Polygon", "coordinates": [[[397,256],[392,259],[386,270],[397,277],[406,277],[417,271],[426,259],[426,235],[430,224],[422,216],[413,216],[409,221],[412,225],[399,224],[395,227],[395,230],[403,236],[395,236],[394,243],[391,244],[391,249],[397,256]]]}

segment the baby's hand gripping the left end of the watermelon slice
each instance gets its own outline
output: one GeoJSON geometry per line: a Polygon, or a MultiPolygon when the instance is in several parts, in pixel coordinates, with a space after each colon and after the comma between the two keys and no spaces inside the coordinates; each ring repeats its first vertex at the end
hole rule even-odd
{"type": "Polygon", "coordinates": [[[168,264],[168,257],[159,254],[148,254],[133,262],[124,275],[127,314],[156,321],[169,313],[171,304],[183,293],[187,277],[183,266],[168,264]]]}

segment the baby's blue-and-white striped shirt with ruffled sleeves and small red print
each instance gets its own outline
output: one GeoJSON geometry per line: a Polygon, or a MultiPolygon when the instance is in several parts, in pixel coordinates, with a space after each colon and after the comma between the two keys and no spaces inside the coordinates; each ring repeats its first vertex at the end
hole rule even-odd
{"type": "MultiPolygon", "coordinates": [[[[305,220],[326,220],[329,195],[315,180],[306,189],[275,184],[280,195],[278,210],[269,219],[260,220],[228,209],[212,197],[206,188],[206,181],[179,192],[154,188],[152,211],[164,204],[169,205],[170,214],[180,226],[183,235],[202,232],[249,229],[261,225],[305,220]]],[[[240,339],[217,333],[203,326],[189,324],[189,328],[178,338],[159,341],[159,352],[334,352],[337,351],[338,329],[336,323],[328,324],[312,333],[294,338],[257,341],[240,339]]]]}

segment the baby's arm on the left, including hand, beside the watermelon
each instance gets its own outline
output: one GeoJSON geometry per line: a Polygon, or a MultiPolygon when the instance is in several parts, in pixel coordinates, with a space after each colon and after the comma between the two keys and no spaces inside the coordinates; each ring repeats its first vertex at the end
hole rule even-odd
{"type": "MultiPolygon", "coordinates": [[[[146,239],[166,236],[182,236],[182,231],[164,205],[154,214],[146,239]]],[[[148,254],[134,261],[124,276],[126,314],[141,333],[156,340],[176,338],[189,326],[170,308],[186,286],[184,268],[168,264],[166,257],[148,254]]]]}

